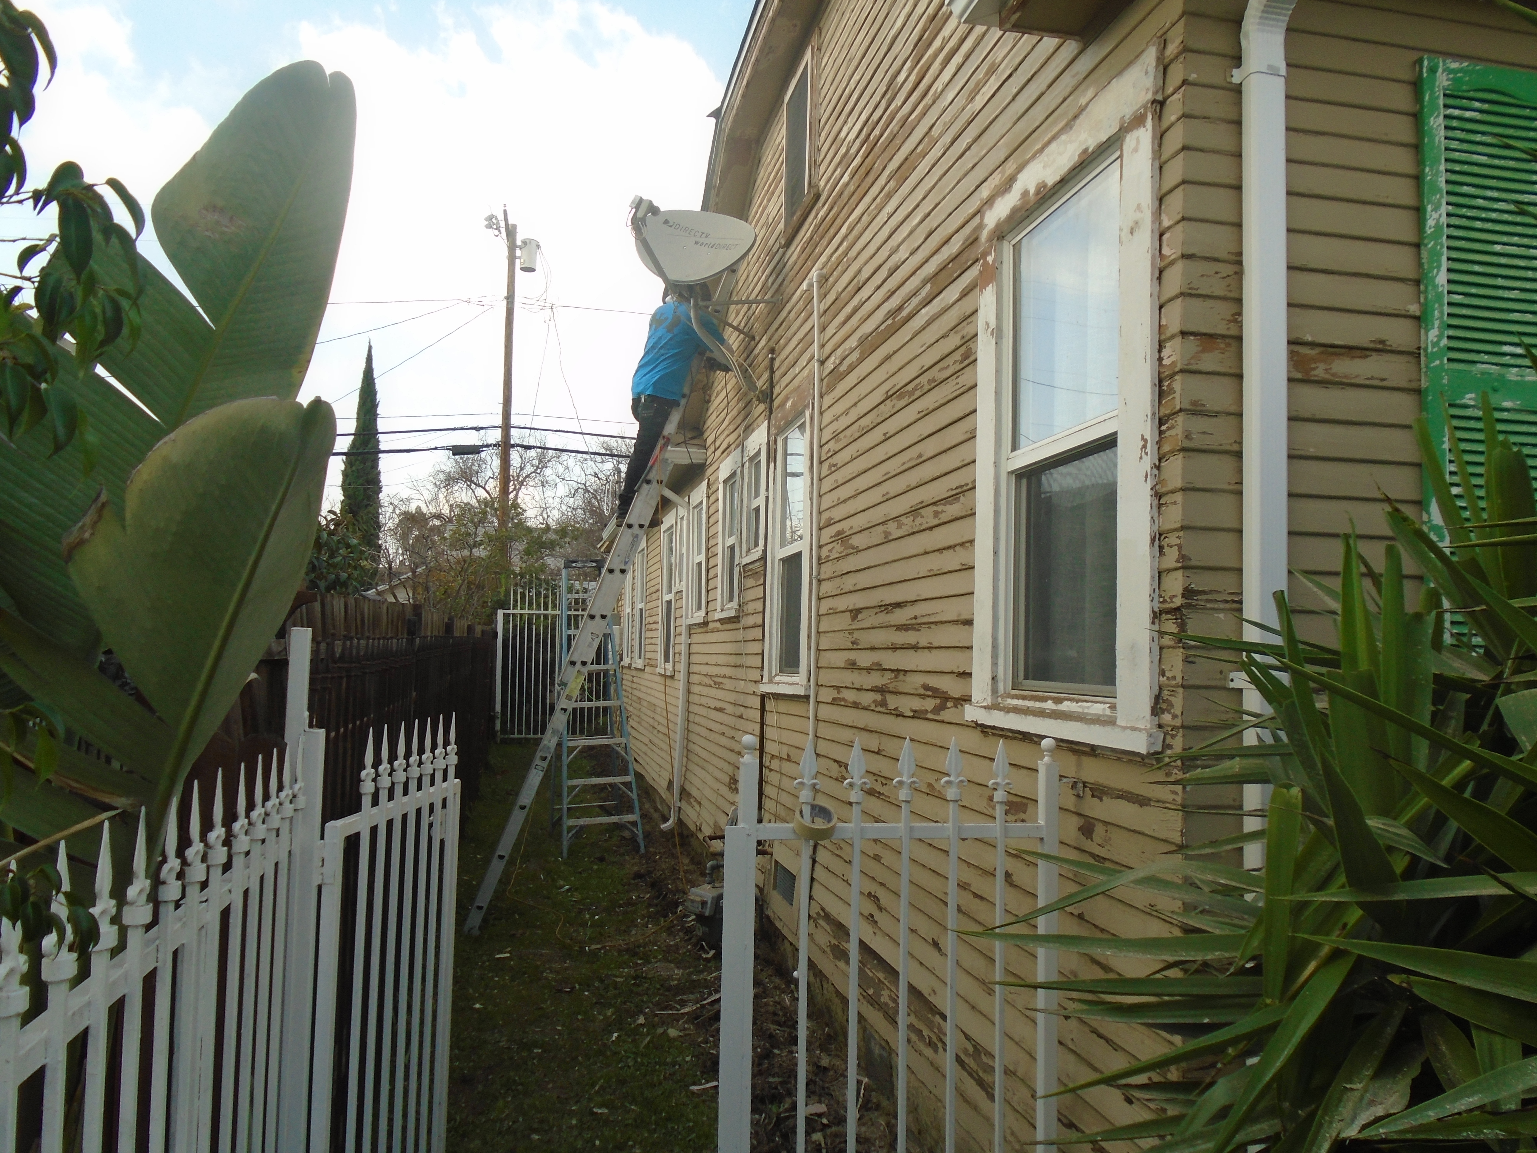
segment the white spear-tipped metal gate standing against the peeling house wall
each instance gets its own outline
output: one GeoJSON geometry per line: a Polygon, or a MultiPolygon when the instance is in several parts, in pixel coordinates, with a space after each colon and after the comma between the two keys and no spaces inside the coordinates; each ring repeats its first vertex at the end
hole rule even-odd
{"type": "MultiPolygon", "coordinates": [[[[961,752],[954,743],[945,759],[945,776],[939,781],[948,804],[948,821],[944,824],[916,824],[913,821],[913,789],[918,787],[916,761],[911,741],[902,746],[898,761],[898,775],[891,784],[898,790],[901,804],[901,821],[896,824],[876,824],[864,819],[864,796],[870,787],[865,776],[864,752],[855,739],[848,755],[848,779],[844,789],[850,801],[850,821],[838,822],[835,827],[816,827],[815,812],[816,793],[822,787],[816,779],[816,756],[807,744],[801,758],[801,778],[795,783],[799,789],[798,816],[804,818],[796,824],[764,824],[758,819],[758,743],[752,736],[742,738],[745,749],[738,763],[738,802],[736,822],[725,829],[725,879],[724,879],[724,925],[721,950],[721,1073],[719,1073],[719,1130],[718,1153],[749,1153],[752,1148],[752,1070],[753,1070],[753,950],[756,932],[756,873],[758,844],[762,841],[801,841],[801,870],[798,878],[810,876],[812,846],[816,839],[850,842],[850,878],[848,878],[848,1038],[847,1038],[847,1127],[845,1142],[848,1153],[855,1153],[858,1130],[859,1102],[859,895],[861,895],[861,849],[867,841],[898,841],[901,844],[901,882],[898,892],[898,1010],[896,1010],[896,1148],[907,1153],[908,1138],[908,985],[910,985],[910,881],[911,856],[915,841],[942,841],[948,847],[948,887],[945,896],[947,935],[945,935],[945,1052],[944,1052],[944,1141],[945,1153],[956,1148],[956,978],[958,978],[958,930],[959,930],[959,861],[961,842],[968,839],[993,841],[996,847],[994,864],[994,905],[991,921],[984,921],[974,927],[987,924],[1002,924],[1008,918],[1007,886],[1004,875],[1005,846],[1011,839],[1030,839],[1039,842],[1047,853],[1057,852],[1057,764],[1051,753],[1056,741],[1041,743],[1041,763],[1037,772],[1037,804],[1039,813],[1033,822],[1014,822],[1005,816],[1008,790],[1011,786],[1008,759],[1004,746],[999,743],[998,756],[993,759],[993,779],[988,789],[993,790],[991,802],[994,819],[991,822],[962,822],[961,801],[967,786],[962,776],[961,752]]],[[[824,819],[830,810],[824,810],[824,819]]],[[[1057,866],[1041,861],[1037,866],[1036,905],[1050,904],[1057,896],[1057,866]]],[[[805,1153],[805,1070],[807,1070],[807,978],[810,972],[810,901],[807,886],[796,884],[796,979],[799,982],[799,1016],[796,1041],[796,1153],[805,1153]]],[[[985,916],[985,913],[984,913],[985,916]]],[[[1036,921],[1037,933],[1056,932],[1056,913],[1047,913],[1036,921]]],[[[994,982],[1005,979],[1005,945],[994,942],[994,982]]],[[[1056,981],[1057,950],[1036,950],[1036,979],[1056,981]]],[[[1005,989],[994,984],[993,992],[993,1151],[1004,1153],[1005,1148],[1005,1085],[1008,1070],[1005,1067],[1005,989]]],[[[1051,1144],[1057,1135],[1056,1098],[1048,1096],[1057,1088],[1057,1018],[1056,993],[1051,990],[1036,990],[1036,1150],[1054,1153],[1051,1144]]]]}

